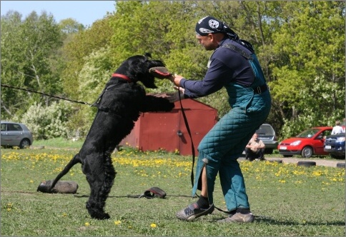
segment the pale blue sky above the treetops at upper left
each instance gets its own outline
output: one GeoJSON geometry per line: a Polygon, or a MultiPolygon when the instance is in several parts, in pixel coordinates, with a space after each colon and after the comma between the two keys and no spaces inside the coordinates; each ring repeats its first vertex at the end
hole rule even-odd
{"type": "Polygon", "coordinates": [[[8,11],[18,11],[22,19],[32,11],[54,16],[57,23],[62,19],[71,18],[84,26],[92,26],[94,21],[103,19],[107,11],[115,10],[115,1],[3,1],[1,0],[1,16],[8,11]]]}

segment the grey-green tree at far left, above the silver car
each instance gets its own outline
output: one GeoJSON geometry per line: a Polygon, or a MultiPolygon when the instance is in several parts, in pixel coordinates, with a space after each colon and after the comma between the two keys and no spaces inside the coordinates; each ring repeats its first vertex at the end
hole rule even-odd
{"type": "MultiPolygon", "coordinates": [[[[21,21],[20,14],[9,12],[1,19],[1,31],[2,82],[47,94],[59,93],[59,71],[53,69],[58,69],[54,53],[62,41],[53,16],[45,12],[38,16],[33,11],[21,21]]],[[[1,93],[8,116],[23,113],[34,101],[44,101],[46,105],[50,101],[47,96],[11,90],[1,93]]]]}

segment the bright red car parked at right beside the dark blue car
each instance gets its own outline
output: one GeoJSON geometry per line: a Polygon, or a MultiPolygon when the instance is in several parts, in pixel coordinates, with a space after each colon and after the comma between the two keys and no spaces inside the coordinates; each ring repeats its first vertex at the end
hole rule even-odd
{"type": "Polygon", "coordinates": [[[332,133],[332,127],[315,127],[303,131],[293,138],[287,138],[277,145],[277,150],[284,157],[301,155],[310,158],[314,155],[328,155],[323,151],[325,137],[332,133]]]}

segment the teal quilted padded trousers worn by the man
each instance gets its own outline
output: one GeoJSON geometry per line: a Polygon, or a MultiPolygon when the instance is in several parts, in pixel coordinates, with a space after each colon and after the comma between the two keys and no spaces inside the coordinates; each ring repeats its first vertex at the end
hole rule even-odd
{"type": "Polygon", "coordinates": [[[227,210],[249,208],[244,177],[237,158],[269,113],[270,104],[250,113],[244,109],[234,108],[214,125],[198,146],[199,155],[192,196],[195,195],[197,187],[200,189],[199,178],[205,166],[210,204],[214,203],[214,183],[219,173],[227,210]]]}

